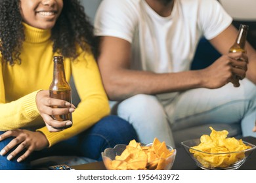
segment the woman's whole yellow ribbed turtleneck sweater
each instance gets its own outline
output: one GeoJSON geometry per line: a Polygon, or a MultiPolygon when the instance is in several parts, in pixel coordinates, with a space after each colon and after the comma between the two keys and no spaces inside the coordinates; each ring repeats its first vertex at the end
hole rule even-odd
{"type": "Polygon", "coordinates": [[[108,98],[91,52],[81,52],[75,61],[64,59],[66,78],[70,80],[71,75],[74,77],[81,102],[72,114],[72,127],[50,133],[39,115],[35,96],[39,90],[48,90],[53,79],[51,31],[27,24],[24,26],[26,41],[20,55],[22,63],[14,66],[6,62],[0,64],[0,131],[41,131],[52,146],[88,129],[108,115],[108,98]]]}

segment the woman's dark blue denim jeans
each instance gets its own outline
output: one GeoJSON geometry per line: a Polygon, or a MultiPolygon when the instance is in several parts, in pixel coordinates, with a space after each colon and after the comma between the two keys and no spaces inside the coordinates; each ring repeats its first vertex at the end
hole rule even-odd
{"type": "MultiPolygon", "coordinates": [[[[5,133],[0,131],[0,135],[5,133]]],[[[116,144],[128,144],[137,141],[137,133],[131,124],[117,116],[107,116],[87,131],[79,133],[66,141],[59,142],[51,148],[33,152],[30,158],[18,163],[16,159],[7,160],[8,154],[0,156],[0,169],[31,169],[30,161],[46,156],[83,156],[97,161],[102,160],[101,152],[116,144]]],[[[0,142],[2,150],[12,138],[0,142]]]]}

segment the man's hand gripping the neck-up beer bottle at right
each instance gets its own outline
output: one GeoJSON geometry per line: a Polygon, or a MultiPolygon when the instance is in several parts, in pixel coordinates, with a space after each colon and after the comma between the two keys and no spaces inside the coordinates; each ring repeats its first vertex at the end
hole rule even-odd
{"type": "Polygon", "coordinates": [[[203,69],[205,88],[221,88],[228,82],[238,85],[245,78],[248,58],[244,53],[229,53],[217,59],[212,65],[203,69]]]}

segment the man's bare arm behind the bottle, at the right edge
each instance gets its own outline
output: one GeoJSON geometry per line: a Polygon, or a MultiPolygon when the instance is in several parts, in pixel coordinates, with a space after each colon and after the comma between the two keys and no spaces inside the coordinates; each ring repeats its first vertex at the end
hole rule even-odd
{"type": "MultiPolygon", "coordinates": [[[[228,50],[232,44],[234,44],[237,34],[237,29],[233,25],[230,25],[217,37],[211,39],[210,42],[221,54],[226,54],[228,53],[228,50]]],[[[246,50],[249,61],[247,65],[246,77],[256,84],[256,51],[248,42],[246,42],[246,50]]]]}

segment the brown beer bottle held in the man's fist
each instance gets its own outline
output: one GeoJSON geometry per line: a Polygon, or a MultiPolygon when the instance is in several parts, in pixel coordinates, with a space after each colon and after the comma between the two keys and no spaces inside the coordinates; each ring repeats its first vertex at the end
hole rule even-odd
{"type": "MultiPolygon", "coordinates": [[[[249,29],[248,25],[244,25],[244,24],[240,25],[238,35],[236,37],[236,41],[229,49],[229,52],[233,52],[233,53],[234,52],[244,52],[244,53],[246,53],[245,42],[246,42],[248,29],[249,29]]],[[[235,76],[234,80],[232,81],[232,83],[234,84],[234,87],[240,86],[239,80],[240,80],[240,78],[238,76],[235,76]]]]}

